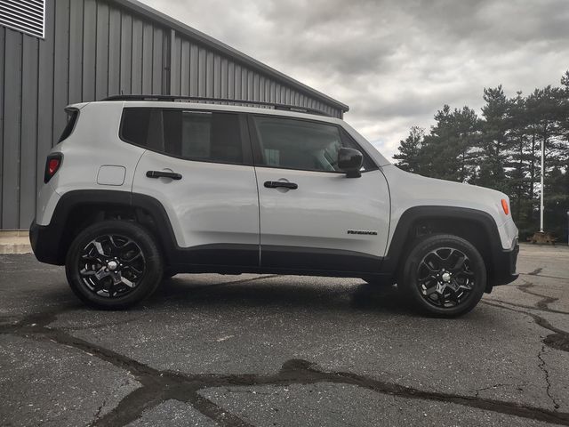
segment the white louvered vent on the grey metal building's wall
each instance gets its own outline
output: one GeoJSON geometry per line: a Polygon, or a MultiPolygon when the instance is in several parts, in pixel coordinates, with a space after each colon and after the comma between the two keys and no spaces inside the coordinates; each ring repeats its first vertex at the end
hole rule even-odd
{"type": "Polygon", "coordinates": [[[45,0],[0,0],[0,25],[44,38],[45,0]]]}

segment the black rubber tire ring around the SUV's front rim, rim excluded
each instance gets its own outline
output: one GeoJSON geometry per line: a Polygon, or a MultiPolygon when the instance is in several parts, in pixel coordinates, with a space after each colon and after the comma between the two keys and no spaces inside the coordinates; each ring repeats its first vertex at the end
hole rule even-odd
{"type": "Polygon", "coordinates": [[[457,236],[433,235],[416,242],[411,252],[407,255],[405,266],[401,274],[400,288],[403,294],[405,294],[405,297],[409,298],[411,302],[413,302],[413,305],[422,312],[438,317],[453,318],[466,314],[474,309],[485,292],[486,281],[485,262],[475,246],[457,236]],[[421,295],[419,286],[417,286],[419,263],[425,254],[439,247],[451,247],[466,254],[470,260],[470,270],[474,272],[476,278],[474,288],[470,291],[467,299],[452,308],[437,307],[427,302],[421,295]]]}

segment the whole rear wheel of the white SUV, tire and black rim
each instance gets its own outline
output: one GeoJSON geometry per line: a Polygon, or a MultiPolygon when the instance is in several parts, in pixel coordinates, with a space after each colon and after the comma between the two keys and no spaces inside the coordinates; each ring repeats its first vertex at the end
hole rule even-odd
{"type": "Polygon", "coordinates": [[[103,310],[132,307],[152,294],[163,276],[162,256],[148,231],[134,222],[97,222],[69,246],[69,286],[85,304],[103,310]]]}

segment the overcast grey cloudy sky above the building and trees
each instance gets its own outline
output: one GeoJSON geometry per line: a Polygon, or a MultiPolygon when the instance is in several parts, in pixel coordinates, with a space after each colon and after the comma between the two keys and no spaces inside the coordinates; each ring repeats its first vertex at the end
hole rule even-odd
{"type": "Polygon", "coordinates": [[[349,105],[391,157],[445,103],[480,113],[485,87],[559,85],[569,0],[143,0],[349,105]]]}

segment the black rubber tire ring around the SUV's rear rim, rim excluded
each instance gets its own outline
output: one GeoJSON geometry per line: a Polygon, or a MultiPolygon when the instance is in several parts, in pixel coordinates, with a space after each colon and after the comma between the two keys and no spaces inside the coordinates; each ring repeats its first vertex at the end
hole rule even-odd
{"type": "Polygon", "coordinates": [[[68,249],[65,271],[69,286],[81,301],[98,309],[121,310],[140,302],[156,290],[162,280],[163,262],[154,239],[140,225],[125,221],[105,221],[87,227],[76,236],[68,249]],[[85,286],[79,274],[79,257],[84,247],[94,238],[105,234],[131,238],[140,247],[145,258],[145,272],[140,283],[129,294],[117,298],[94,294],[85,286]]]}

